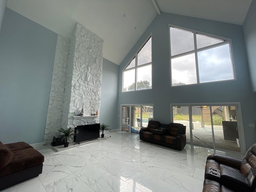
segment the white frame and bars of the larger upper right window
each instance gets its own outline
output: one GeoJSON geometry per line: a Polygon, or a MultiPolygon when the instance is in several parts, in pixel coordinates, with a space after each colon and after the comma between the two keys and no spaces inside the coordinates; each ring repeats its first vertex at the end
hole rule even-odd
{"type": "Polygon", "coordinates": [[[235,81],[236,80],[236,70],[235,70],[235,64],[234,64],[233,46],[232,46],[232,40],[230,38],[226,38],[226,37],[222,37],[222,36],[217,36],[217,35],[214,35],[214,34],[208,34],[208,33],[205,33],[205,32],[198,31],[198,30],[188,29],[188,28],[184,28],[184,27],[180,27],[180,26],[169,24],[169,59],[170,59],[170,84],[171,84],[171,87],[191,86],[191,85],[198,85],[198,84],[208,84],[208,83],[227,82],[227,81],[235,81]],[[194,50],[172,56],[172,52],[171,52],[172,51],[171,50],[171,36],[170,36],[171,27],[177,28],[177,29],[180,29],[180,30],[185,30],[185,31],[188,31],[188,32],[192,32],[193,36],[194,36],[194,50]],[[196,34],[205,35],[205,36],[208,36],[208,37],[220,39],[220,40],[223,40],[223,42],[220,42],[220,43],[217,43],[217,44],[213,44],[213,45],[210,45],[210,46],[206,46],[206,47],[203,47],[203,48],[197,48],[196,34]],[[230,58],[231,58],[232,71],[233,71],[234,79],[212,81],[212,82],[202,82],[202,83],[200,83],[199,67],[198,67],[198,52],[204,51],[204,50],[209,50],[211,48],[223,46],[223,45],[226,45],[226,44],[229,44],[229,47],[230,47],[230,58]],[[192,54],[192,53],[195,54],[196,80],[197,80],[197,82],[194,83],[194,84],[185,84],[185,85],[173,86],[172,85],[172,62],[171,62],[172,58],[178,58],[180,56],[185,56],[185,55],[192,54]]]}

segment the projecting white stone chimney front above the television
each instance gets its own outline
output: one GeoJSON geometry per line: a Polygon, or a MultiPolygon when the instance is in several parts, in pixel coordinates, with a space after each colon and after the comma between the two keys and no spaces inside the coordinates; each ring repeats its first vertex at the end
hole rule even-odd
{"type": "Polygon", "coordinates": [[[99,118],[77,120],[73,112],[77,109],[90,109],[90,113],[100,110],[102,80],[103,40],[90,30],[77,23],[74,30],[74,54],[70,106],[67,127],[98,123],[99,118]]]}

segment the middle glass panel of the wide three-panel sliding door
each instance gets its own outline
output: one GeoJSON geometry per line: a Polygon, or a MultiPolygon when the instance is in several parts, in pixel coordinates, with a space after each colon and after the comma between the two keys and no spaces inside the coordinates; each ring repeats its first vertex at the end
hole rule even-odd
{"type": "Polygon", "coordinates": [[[209,106],[191,106],[193,144],[214,148],[209,106]]]}

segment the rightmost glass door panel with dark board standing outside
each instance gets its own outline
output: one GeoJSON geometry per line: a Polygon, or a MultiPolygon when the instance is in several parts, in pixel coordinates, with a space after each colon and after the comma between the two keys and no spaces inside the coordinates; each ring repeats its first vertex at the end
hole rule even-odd
{"type": "Polygon", "coordinates": [[[215,147],[241,152],[236,106],[212,106],[215,147]]]}

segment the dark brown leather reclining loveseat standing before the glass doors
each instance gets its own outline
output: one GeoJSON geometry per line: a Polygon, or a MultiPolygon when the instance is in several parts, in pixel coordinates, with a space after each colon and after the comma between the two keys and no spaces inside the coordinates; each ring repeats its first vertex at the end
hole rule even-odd
{"type": "Polygon", "coordinates": [[[186,145],[186,126],[179,123],[160,124],[158,121],[149,121],[147,128],[140,129],[140,140],[182,150],[186,145]]]}

